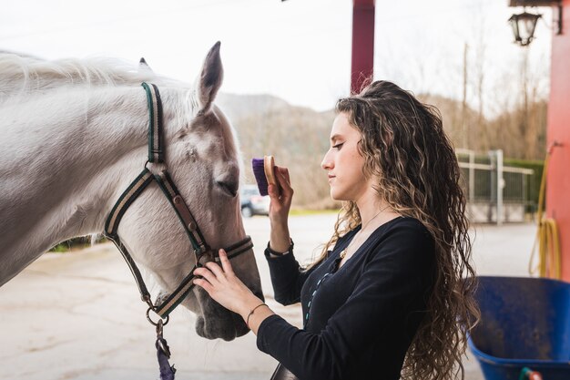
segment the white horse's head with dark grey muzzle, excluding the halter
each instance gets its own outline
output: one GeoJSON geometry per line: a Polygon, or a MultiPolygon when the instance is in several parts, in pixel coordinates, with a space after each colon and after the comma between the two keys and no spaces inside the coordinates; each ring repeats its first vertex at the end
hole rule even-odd
{"type": "MultiPolygon", "coordinates": [[[[165,163],[148,164],[152,172],[168,168],[212,251],[246,236],[239,210],[239,146],[228,119],[214,104],[222,78],[217,43],[193,87],[160,87],[165,163]]],[[[153,274],[162,293],[172,293],[196,265],[187,231],[156,182],[129,206],[117,234],[134,260],[153,274]]],[[[239,278],[262,298],[253,251],[231,263],[239,278]]],[[[249,331],[238,314],[221,307],[199,287],[192,288],[181,304],[197,314],[200,336],[229,341],[249,331]]]]}

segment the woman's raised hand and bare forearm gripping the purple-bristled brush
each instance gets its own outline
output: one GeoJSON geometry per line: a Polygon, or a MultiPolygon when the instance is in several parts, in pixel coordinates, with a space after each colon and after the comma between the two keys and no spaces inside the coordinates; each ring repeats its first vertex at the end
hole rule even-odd
{"type": "Polygon", "coordinates": [[[286,252],[290,246],[289,211],[293,199],[293,189],[290,185],[289,169],[275,167],[275,178],[278,187],[270,184],[270,247],[276,252],[286,252]]]}

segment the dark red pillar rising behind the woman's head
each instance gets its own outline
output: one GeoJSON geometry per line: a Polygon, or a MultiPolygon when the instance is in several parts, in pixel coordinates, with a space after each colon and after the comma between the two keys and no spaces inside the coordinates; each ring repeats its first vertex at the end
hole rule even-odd
{"type": "Polygon", "coordinates": [[[375,0],[353,0],[351,93],[370,83],[374,67],[375,0]]]}

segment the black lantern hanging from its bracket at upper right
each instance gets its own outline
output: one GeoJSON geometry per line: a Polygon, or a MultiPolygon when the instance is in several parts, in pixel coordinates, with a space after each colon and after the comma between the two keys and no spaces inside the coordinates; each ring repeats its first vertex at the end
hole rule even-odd
{"type": "MultiPolygon", "coordinates": [[[[562,35],[562,0],[509,0],[509,6],[556,6],[558,20],[556,22],[556,34],[562,35]]],[[[533,15],[523,12],[512,15],[509,23],[513,27],[514,42],[521,46],[527,46],[534,38],[534,27],[541,15],[533,15]]]]}

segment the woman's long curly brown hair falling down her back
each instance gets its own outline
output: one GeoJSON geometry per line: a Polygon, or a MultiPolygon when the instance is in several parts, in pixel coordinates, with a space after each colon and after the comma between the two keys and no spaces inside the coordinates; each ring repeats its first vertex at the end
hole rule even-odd
{"type": "MultiPolygon", "coordinates": [[[[466,334],[480,312],[473,297],[475,271],[460,169],[439,110],[391,82],[376,81],[358,95],[341,98],[336,111],[361,132],[364,175],[379,178],[378,196],[393,211],[421,221],[435,241],[433,293],[406,354],[402,378],[463,379],[466,334]]],[[[315,263],[360,223],[356,203],[343,202],[334,234],[315,263]]]]}

